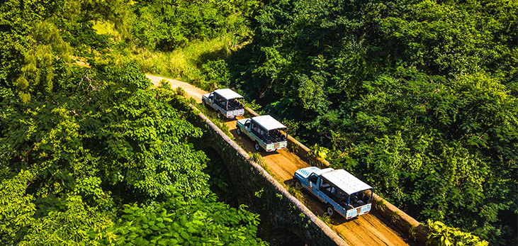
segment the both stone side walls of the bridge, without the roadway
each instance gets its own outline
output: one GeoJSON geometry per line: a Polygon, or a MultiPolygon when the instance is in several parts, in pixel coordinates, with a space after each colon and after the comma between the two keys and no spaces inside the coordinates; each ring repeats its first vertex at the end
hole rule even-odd
{"type": "MultiPolygon", "coordinates": [[[[193,105],[191,107],[196,108],[193,105]]],[[[255,114],[249,109],[248,111],[252,115],[255,114]]],[[[198,113],[197,118],[199,126],[204,131],[200,147],[218,153],[229,171],[238,203],[247,205],[249,211],[260,215],[261,238],[267,240],[294,234],[299,242],[307,245],[347,245],[342,237],[292,196],[203,113],[198,113]]],[[[293,150],[296,155],[308,157],[307,147],[291,137],[288,137],[288,142],[288,145],[298,145],[293,150]]],[[[305,159],[315,166],[329,166],[328,162],[318,157],[305,159]]],[[[376,194],[374,200],[377,206],[373,206],[373,213],[376,213],[377,217],[385,218],[385,221],[389,221],[400,232],[412,234],[412,241],[416,244],[424,244],[427,228],[376,194]]]]}

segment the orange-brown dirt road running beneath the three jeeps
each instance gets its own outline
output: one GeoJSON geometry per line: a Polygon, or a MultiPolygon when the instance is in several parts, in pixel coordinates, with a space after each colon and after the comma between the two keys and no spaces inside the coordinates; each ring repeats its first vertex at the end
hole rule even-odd
{"type": "MultiPolygon", "coordinates": [[[[164,77],[157,77],[147,75],[152,83],[156,86],[164,77]]],[[[201,96],[206,91],[203,91],[196,86],[180,82],[175,79],[167,79],[172,88],[182,87],[187,96],[196,99],[198,104],[201,103],[201,96]]],[[[244,149],[248,152],[256,152],[252,141],[247,137],[241,137],[236,133],[236,121],[227,121],[226,124],[230,129],[230,133],[234,135],[237,142],[240,142],[244,149]]],[[[293,174],[297,169],[308,167],[309,164],[300,159],[297,155],[288,150],[281,150],[276,152],[261,152],[266,164],[271,171],[272,176],[283,184],[291,185],[293,174]]],[[[305,201],[303,203],[310,208],[313,213],[318,216],[325,214],[325,206],[314,196],[308,192],[303,192],[305,201]]],[[[349,245],[408,245],[407,242],[388,225],[385,225],[381,220],[372,214],[366,214],[354,218],[352,220],[345,220],[341,216],[335,216],[331,220],[330,228],[336,231],[349,245]]]]}

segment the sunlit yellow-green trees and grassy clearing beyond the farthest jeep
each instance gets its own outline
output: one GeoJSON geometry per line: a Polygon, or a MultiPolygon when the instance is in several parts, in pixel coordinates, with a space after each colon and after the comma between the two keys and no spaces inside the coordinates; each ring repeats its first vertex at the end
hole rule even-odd
{"type": "Polygon", "coordinates": [[[118,65],[136,62],[142,72],[215,89],[228,84],[226,63],[218,59],[249,40],[247,17],[257,6],[255,0],[130,1],[118,9],[120,18],[95,22],[97,33],[110,35],[83,31],[71,40],[81,57],[118,65]],[[94,50],[81,41],[91,42],[94,50]]]}

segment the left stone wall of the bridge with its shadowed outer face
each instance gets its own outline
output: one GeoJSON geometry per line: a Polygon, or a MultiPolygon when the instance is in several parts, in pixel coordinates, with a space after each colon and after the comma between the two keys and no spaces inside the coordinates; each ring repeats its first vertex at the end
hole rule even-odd
{"type": "Polygon", "coordinates": [[[248,153],[220,128],[202,113],[198,114],[198,118],[205,123],[201,124],[204,128],[201,147],[212,148],[225,162],[236,188],[238,202],[260,215],[259,233],[262,238],[288,231],[308,245],[347,245],[342,237],[289,194],[261,165],[253,162],[248,153]]]}

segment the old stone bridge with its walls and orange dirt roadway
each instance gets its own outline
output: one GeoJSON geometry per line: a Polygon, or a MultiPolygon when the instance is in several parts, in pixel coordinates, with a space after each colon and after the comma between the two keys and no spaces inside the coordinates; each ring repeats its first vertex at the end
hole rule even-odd
{"type": "MultiPolygon", "coordinates": [[[[158,86],[162,79],[165,79],[173,89],[181,88],[196,103],[201,103],[201,96],[208,93],[196,86],[180,82],[175,79],[168,79],[146,74],[155,86],[158,86]]],[[[196,108],[192,104],[192,108],[196,108]]],[[[247,113],[258,116],[250,108],[245,108],[247,113]]],[[[325,209],[318,199],[313,196],[306,196],[303,192],[305,203],[311,206],[311,211],[288,193],[285,186],[265,171],[261,165],[253,162],[250,156],[242,148],[223,133],[214,123],[202,113],[190,115],[194,117],[193,123],[199,123],[203,128],[204,135],[201,141],[202,149],[217,153],[225,162],[232,184],[235,186],[238,202],[249,206],[249,210],[260,215],[259,236],[265,240],[282,235],[296,235],[298,240],[308,245],[424,245],[427,236],[427,228],[417,220],[408,216],[388,201],[374,194],[373,208],[371,213],[360,216],[352,221],[344,221],[340,218],[330,220],[330,226],[322,222],[317,214],[324,214],[325,209]],[[315,203],[317,204],[315,206],[315,203]],[[313,212],[315,213],[313,213],[313,212]],[[337,234],[337,233],[339,234],[337,234]]],[[[225,123],[232,133],[235,131],[235,122],[225,123]]],[[[233,135],[237,140],[237,135],[233,135]]],[[[240,142],[240,140],[237,140],[240,142]]],[[[252,145],[251,142],[241,142],[244,145],[252,145]]],[[[253,149],[249,147],[250,150],[253,149]]],[[[288,136],[288,149],[277,155],[263,155],[268,165],[264,166],[270,172],[274,172],[276,178],[282,175],[281,180],[287,184],[288,179],[296,169],[308,165],[317,167],[329,167],[330,163],[315,155],[310,155],[310,150],[297,140],[288,136]],[[280,154],[280,155],[278,155],[280,154]],[[272,157],[279,157],[275,167],[271,168],[272,157]],[[297,160],[298,159],[298,160],[297,160]],[[278,162],[281,160],[281,162],[278,162]],[[303,162],[303,163],[301,163],[303,162]],[[280,165],[280,166],[279,166],[280,165]],[[289,167],[289,168],[288,168],[289,167]]],[[[278,242],[270,241],[272,245],[278,242]]],[[[288,244],[286,244],[288,245],[288,244]]]]}

